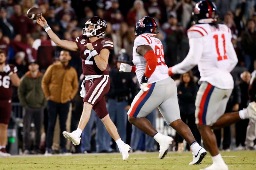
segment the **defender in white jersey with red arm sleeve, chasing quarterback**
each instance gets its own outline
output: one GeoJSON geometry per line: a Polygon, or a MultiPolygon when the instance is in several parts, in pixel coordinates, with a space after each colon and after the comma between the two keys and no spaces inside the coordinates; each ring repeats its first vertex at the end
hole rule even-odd
{"type": "Polygon", "coordinates": [[[190,145],[193,151],[193,161],[189,165],[199,164],[206,151],[195,140],[191,130],[180,119],[180,109],[177,98],[177,87],[168,75],[168,67],[164,63],[162,42],[156,38],[157,23],[154,18],[143,17],[135,26],[133,60],[135,66],[121,63],[120,70],[136,72],[140,82],[140,92],[132,101],[128,111],[128,120],[147,135],[154,137],[160,145],[159,159],[164,158],[172,137],[157,132],[145,117],[156,107],[165,121],[175,129],[190,145]]]}

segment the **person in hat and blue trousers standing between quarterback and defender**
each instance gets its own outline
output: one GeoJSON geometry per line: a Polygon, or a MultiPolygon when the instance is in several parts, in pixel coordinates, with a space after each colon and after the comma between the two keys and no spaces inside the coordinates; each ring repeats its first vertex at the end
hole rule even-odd
{"type": "MultiPolygon", "coordinates": [[[[121,54],[116,60],[116,67],[109,71],[110,89],[106,95],[107,109],[111,120],[115,123],[121,139],[126,142],[127,111],[131,107],[132,99],[136,95],[136,82],[133,74],[119,72],[120,64],[128,63],[128,56],[121,54]]],[[[98,132],[100,129],[98,129],[98,132]]],[[[106,144],[110,144],[111,137],[108,133],[106,144]]]]}

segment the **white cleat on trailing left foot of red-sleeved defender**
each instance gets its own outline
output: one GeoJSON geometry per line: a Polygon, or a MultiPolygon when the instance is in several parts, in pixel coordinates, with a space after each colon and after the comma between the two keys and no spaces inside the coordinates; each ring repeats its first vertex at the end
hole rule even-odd
{"type": "Polygon", "coordinates": [[[172,144],[172,137],[161,135],[158,139],[155,139],[156,142],[159,144],[159,159],[163,159],[164,156],[167,154],[169,146],[172,144]]]}

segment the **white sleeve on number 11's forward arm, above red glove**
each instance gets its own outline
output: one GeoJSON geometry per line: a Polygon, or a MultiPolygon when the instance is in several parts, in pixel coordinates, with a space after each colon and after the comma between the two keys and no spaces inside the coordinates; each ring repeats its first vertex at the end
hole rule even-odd
{"type": "Polygon", "coordinates": [[[188,55],[181,63],[172,67],[172,73],[183,74],[195,67],[202,56],[203,45],[202,38],[190,38],[188,55]]]}

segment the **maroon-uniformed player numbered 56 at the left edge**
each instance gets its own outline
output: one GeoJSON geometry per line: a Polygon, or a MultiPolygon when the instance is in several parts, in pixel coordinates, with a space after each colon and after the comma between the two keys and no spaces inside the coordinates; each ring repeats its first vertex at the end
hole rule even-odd
{"type": "Polygon", "coordinates": [[[16,74],[17,67],[5,64],[6,59],[5,52],[0,50],[0,157],[10,156],[9,153],[6,153],[5,145],[12,111],[12,85],[20,85],[20,78],[16,74]]]}

